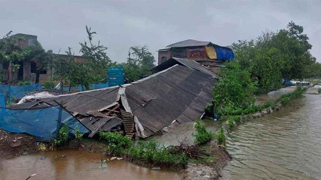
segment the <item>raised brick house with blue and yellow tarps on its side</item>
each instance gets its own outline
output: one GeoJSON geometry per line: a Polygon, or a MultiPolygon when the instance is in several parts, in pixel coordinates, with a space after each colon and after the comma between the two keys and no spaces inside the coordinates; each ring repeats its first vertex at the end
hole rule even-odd
{"type": "Polygon", "coordinates": [[[195,60],[217,72],[221,66],[224,66],[225,61],[234,59],[234,53],[231,48],[210,41],[187,39],[158,50],[158,64],[171,57],[195,60]]]}

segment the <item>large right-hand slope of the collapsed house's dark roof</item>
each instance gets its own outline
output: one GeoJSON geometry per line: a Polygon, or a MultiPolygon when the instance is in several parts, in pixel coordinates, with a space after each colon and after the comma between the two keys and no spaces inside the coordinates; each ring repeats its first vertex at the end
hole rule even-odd
{"type": "Polygon", "coordinates": [[[126,86],[125,93],[132,113],[150,136],[177,118],[181,123],[199,118],[214,82],[212,75],[176,65],[126,86]]]}

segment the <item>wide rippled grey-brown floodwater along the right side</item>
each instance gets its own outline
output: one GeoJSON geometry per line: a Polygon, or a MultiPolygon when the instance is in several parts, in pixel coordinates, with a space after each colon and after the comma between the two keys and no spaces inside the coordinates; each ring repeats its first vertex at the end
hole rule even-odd
{"type": "Polygon", "coordinates": [[[321,95],[305,95],[233,129],[221,179],[321,179],[321,95]]]}

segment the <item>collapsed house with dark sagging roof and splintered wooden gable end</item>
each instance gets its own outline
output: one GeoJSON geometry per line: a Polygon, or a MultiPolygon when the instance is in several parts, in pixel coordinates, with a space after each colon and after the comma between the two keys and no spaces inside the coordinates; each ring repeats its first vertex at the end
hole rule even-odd
{"type": "Polygon", "coordinates": [[[91,130],[89,137],[99,131],[120,131],[128,137],[145,138],[171,123],[194,121],[204,113],[215,74],[201,65],[192,66],[176,64],[130,84],[41,97],[14,108],[58,103],[91,130]]]}

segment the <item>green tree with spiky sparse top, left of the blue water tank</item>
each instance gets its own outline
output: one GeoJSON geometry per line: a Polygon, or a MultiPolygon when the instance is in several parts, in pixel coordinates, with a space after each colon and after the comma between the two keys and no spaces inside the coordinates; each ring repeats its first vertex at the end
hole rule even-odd
{"type": "Polygon", "coordinates": [[[107,47],[93,43],[95,31],[86,25],[88,34],[88,42],[80,42],[80,52],[82,53],[82,61],[76,61],[74,54],[69,47],[66,51],[67,55],[56,55],[54,63],[55,78],[63,84],[69,86],[82,85],[86,89],[90,88],[91,83],[97,83],[106,79],[107,68],[115,65],[107,55],[107,47]]]}

